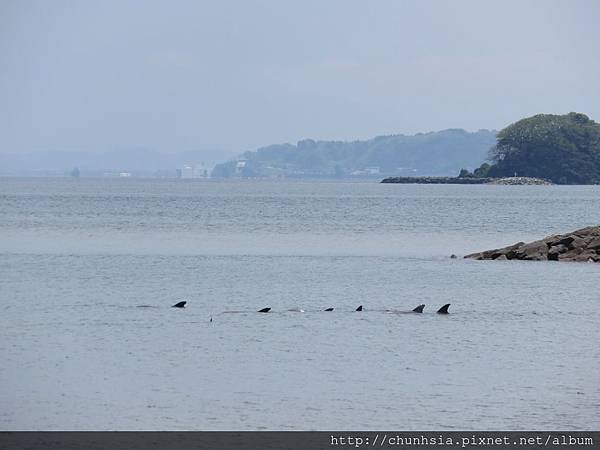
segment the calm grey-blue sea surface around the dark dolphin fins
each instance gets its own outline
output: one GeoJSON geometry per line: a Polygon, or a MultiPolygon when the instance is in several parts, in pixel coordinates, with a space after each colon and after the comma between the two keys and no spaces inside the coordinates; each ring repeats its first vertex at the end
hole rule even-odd
{"type": "Polygon", "coordinates": [[[597,224],[598,186],[0,179],[0,429],[598,429],[600,267],[448,258],[597,224]]]}

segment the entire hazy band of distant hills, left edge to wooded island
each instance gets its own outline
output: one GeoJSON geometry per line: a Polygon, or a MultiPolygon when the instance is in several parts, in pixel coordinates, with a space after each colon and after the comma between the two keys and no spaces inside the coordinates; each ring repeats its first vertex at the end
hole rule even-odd
{"type": "Polygon", "coordinates": [[[414,136],[379,136],[366,141],[277,144],[235,158],[232,152],[199,150],[159,153],[126,149],[106,153],[47,151],[0,154],[0,176],[114,175],[175,177],[184,166],[214,167],[213,177],[357,178],[451,176],[486,160],[496,132],[450,129],[414,136]],[[224,160],[232,158],[228,162],[224,160]],[[218,164],[221,162],[221,164],[218,164]],[[75,171],[75,168],[78,170],[75,171]]]}

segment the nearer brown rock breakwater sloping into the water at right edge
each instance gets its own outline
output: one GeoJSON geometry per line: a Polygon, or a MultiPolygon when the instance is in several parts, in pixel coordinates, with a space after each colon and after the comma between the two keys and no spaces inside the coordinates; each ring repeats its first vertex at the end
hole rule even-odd
{"type": "Polygon", "coordinates": [[[472,253],[465,258],[523,261],[600,262],[600,226],[548,236],[534,242],[472,253]]]}

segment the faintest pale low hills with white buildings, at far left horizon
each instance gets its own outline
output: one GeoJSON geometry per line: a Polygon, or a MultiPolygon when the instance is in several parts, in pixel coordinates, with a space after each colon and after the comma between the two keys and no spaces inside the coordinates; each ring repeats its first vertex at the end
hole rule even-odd
{"type": "Polygon", "coordinates": [[[127,149],[107,153],[47,151],[26,154],[0,154],[0,175],[64,175],[75,167],[81,176],[130,172],[134,176],[175,176],[184,165],[212,167],[234,155],[232,152],[198,150],[159,153],[147,149],[127,149]]]}

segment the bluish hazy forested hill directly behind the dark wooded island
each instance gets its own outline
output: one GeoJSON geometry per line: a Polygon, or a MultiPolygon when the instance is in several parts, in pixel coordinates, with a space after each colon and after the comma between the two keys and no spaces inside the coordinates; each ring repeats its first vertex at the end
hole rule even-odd
{"type": "Polygon", "coordinates": [[[306,139],[246,152],[218,164],[213,177],[450,176],[478,167],[495,143],[495,131],[461,129],[353,142],[306,139]]]}

